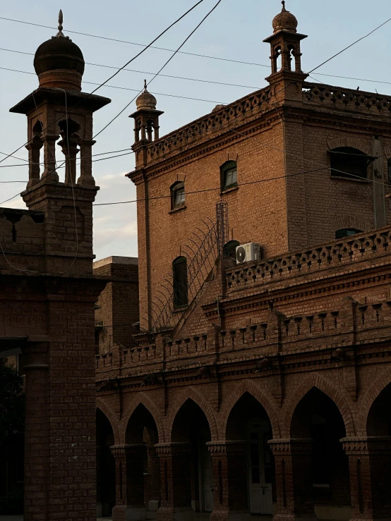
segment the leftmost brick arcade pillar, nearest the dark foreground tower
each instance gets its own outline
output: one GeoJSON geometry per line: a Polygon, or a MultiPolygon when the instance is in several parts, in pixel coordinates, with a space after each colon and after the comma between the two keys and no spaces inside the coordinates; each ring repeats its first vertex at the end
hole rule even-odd
{"type": "Polygon", "coordinates": [[[113,521],[143,521],[145,444],[112,446],[116,465],[116,505],[113,521]]]}

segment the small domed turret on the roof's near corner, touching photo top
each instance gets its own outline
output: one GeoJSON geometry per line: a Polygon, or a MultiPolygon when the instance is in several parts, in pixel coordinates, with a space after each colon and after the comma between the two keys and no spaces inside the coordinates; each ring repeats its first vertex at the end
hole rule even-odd
{"type": "Polygon", "coordinates": [[[271,47],[272,74],[266,80],[272,85],[272,94],[277,101],[284,99],[301,101],[301,87],[308,75],[301,71],[300,42],[307,36],[297,32],[296,17],[287,11],[284,0],[282,0],[282,11],[275,17],[272,25],[272,36],[263,40],[270,43],[271,47]],[[280,69],[279,58],[281,58],[280,69]]]}

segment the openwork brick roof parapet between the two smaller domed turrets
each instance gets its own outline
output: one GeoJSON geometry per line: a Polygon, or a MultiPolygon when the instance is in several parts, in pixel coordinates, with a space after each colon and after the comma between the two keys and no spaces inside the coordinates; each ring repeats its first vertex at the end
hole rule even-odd
{"type": "Polygon", "coordinates": [[[184,147],[195,142],[198,144],[203,137],[209,140],[211,135],[229,130],[229,126],[234,121],[243,121],[263,113],[270,109],[270,97],[270,87],[265,87],[161,137],[148,147],[148,163],[166,154],[180,152],[184,147]]]}

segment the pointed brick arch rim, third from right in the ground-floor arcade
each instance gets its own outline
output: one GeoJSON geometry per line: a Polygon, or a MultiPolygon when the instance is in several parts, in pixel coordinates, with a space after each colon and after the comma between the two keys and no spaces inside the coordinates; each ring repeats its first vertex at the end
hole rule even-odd
{"type": "Polygon", "coordinates": [[[244,393],[249,393],[255,400],[258,400],[260,405],[265,409],[267,416],[270,419],[270,424],[272,425],[273,438],[279,438],[280,436],[280,428],[279,428],[279,419],[277,415],[277,405],[275,404],[275,400],[271,396],[267,396],[267,394],[261,389],[255,382],[251,380],[243,380],[236,387],[236,391],[231,395],[229,403],[226,407],[226,411],[224,413],[224,419],[222,421],[222,439],[225,439],[225,432],[227,429],[227,423],[229,419],[229,415],[231,414],[231,410],[234,408],[236,403],[240,400],[244,393]]]}

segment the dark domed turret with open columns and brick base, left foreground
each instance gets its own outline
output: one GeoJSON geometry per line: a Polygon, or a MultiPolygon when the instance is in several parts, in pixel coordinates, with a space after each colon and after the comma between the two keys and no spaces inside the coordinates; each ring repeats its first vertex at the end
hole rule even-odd
{"type": "Polygon", "coordinates": [[[59,32],[35,53],[40,85],[11,109],[28,118],[29,180],[22,196],[28,209],[45,212],[48,272],[92,271],[92,202],[99,190],[92,177],[92,114],[110,99],[82,92],[84,66],[82,51],[64,35],[60,11],[59,32]]]}

